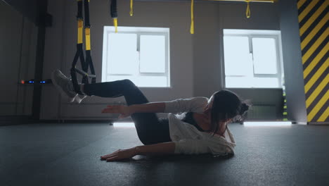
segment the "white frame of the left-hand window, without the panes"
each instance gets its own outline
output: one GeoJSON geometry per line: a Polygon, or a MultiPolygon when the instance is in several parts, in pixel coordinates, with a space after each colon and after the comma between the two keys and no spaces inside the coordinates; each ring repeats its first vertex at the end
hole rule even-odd
{"type": "MultiPolygon", "coordinates": [[[[117,27],[118,33],[120,34],[136,34],[137,36],[137,46],[136,50],[138,51],[138,57],[140,57],[140,48],[141,48],[141,35],[163,35],[164,36],[164,73],[141,73],[141,63],[138,60],[138,74],[137,77],[148,77],[148,76],[158,76],[158,77],[167,77],[167,86],[160,88],[170,88],[170,50],[169,50],[169,35],[170,30],[169,27],[117,27]]],[[[102,60],[102,82],[107,80],[107,77],[110,75],[115,76],[131,76],[134,77],[133,74],[116,74],[108,72],[108,35],[110,33],[115,33],[114,26],[104,26],[103,32],[103,60],[102,60]]],[[[138,86],[143,87],[143,86],[138,86]]],[[[157,88],[157,87],[145,87],[145,88],[157,88]]]]}

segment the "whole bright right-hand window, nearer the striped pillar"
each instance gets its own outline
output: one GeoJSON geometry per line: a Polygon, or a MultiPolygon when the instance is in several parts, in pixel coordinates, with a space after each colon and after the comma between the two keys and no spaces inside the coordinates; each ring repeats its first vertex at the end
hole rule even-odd
{"type": "Polygon", "coordinates": [[[280,31],[224,29],[225,87],[280,88],[280,31]]]}

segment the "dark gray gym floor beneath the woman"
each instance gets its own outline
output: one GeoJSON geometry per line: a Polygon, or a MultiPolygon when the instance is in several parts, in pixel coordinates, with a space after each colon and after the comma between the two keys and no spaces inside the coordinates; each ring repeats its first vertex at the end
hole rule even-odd
{"type": "Polygon", "coordinates": [[[106,123],[0,127],[0,185],[329,185],[329,126],[231,124],[236,154],[135,156],[101,161],[141,145],[134,128],[106,123]]]}

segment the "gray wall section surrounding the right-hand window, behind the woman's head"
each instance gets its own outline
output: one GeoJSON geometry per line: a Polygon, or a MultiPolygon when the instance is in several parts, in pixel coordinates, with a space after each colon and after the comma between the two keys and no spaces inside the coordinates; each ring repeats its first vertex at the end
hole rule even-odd
{"type": "MultiPolygon", "coordinates": [[[[246,18],[245,3],[198,3],[195,6],[193,36],[194,96],[209,97],[224,89],[223,29],[280,30],[278,4],[250,4],[246,18]]],[[[237,67],[238,68],[238,67],[237,67]]],[[[253,104],[276,106],[280,117],[282,89],[230,89],[253,104]]]]}

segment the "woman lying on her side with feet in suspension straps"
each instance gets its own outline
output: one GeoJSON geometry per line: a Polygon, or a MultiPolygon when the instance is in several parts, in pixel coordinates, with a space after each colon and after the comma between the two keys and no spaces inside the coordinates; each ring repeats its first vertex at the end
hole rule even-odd
{"type": "Polygon", "coordinates": [[[236,142],[227,124],[243,116],[249,107],[228,90],[215,92],[210,99],[193,97],[150,103],[130,80],[79,85],[84,95],[77,95],[71,80],[60,70],[54,71],[51,78],[70,101],[85,95],[124,96],[126,99],[127,106],[108,106],[102,112],[120,113],[120,118],[131,116],[137,135],[145,145],[101,156],[106,161],[129,159],[136,155],[233,154],[236,142]],[[159,119],[155,113],[169,113],[169,116],[168,119],[159,119]]]}

